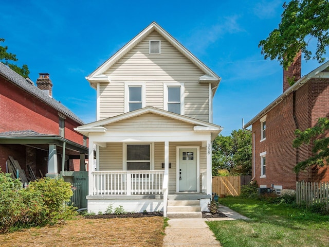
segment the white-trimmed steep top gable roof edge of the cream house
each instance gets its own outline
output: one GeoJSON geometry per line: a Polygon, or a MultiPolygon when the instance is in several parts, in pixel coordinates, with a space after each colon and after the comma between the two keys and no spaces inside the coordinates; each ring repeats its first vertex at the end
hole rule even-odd
{"type": "Polygon", "coordinates": [[[195,64],[205,73],[205,76],[200,77],[200,81],[211,82],[213,83],[213,87],[218,86],[221,81],[221,77],[217,76],[209,67],[207,67],[203,62],[197,59],[187,48],[180,44],[174,37],[171,36],[170,33],[160,27],[156,22],[152,22],[149,26],[143,29],[140,33],[137,34],[135,38],[125,44],[112,57],[107,59],[102,65],[95,69],[92,74],[87,76],[86,79],[90,83],[90,86],[96,89],[96,82],[108,82],[108,77],[103,73],[153,31],[157,31],[163,38],[165,38],[170,44],[172,44],[176,49],[178,49],[181,54],[187,57],[193,64],[195,64]]]}

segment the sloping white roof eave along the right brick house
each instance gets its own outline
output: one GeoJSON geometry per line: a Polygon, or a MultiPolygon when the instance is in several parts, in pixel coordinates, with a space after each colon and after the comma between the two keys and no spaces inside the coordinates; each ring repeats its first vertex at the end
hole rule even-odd
{"type": "Polygon", "coordinates": [[[278,103],[280,103],[283,100],[284,97],[289,95],[291,92],[298,90],[299,87],[304,85],[311,78],[328,78],[329,77],[329,71],[326,70],[326,68],[328,66],[329,66],[329,61],[325,62],[321,66],[314,69],[312,72],[308,73],[306,76],[303,76],[301,79],[296,81],[294,83],[294,85],[290,86],[278,98],[276,98],[269,105],[267,105],[267,107],[265,107],[259,114],[257,114],[254,118],[252,118],[249,122],[247,122],[245,124],[244,128],[247,128],[247,127],[251,126],[252,123],[254,123],[258,119],[260,119],[262,116],[264,116],[266,113],[268,113],[273,107],[275,107],[278,103]]]}

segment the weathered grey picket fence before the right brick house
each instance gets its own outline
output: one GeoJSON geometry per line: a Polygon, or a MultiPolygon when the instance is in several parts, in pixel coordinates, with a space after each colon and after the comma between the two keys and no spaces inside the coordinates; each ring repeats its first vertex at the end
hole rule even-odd
{"type": "Polygon", "coordinates": [[[325,204],[329,211],[329,182],[296,182],[296,201],[297,205],[305,203],[306,207],[325,204]]]}

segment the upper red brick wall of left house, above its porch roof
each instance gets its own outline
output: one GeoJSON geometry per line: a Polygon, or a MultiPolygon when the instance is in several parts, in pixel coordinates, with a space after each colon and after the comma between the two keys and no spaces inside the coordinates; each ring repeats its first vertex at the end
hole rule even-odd
{"type": "MultiPolygon", "coordinates": [[[[0,83],[0,132],[33,130],[44,134],[59,134],[57,110],[2,77],[0,83]]],[[[83,136],[73,129],[80,125],[66,117],[65,138],[83,145],[83,136]]]]}

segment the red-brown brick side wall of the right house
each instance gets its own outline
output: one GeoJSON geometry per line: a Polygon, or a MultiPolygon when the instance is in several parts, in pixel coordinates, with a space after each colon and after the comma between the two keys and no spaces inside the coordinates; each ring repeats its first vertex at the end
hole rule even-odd
{"type": "MultiPolygon", "coordinates": [[[[309,168],[296,174],[295,165],[312,155],[312,145],[293,148],[295,130],[315,125],[318,117],[328,116],[329,79],[312,79],[296,92],[287,95],[266,114],[266,139],[261,139],[260,119],[252,125],[255,134],[255,180],[259,185],[282,185],[295,189],[296,181],[328,181],[327,168],[309,168]],[[295,117],[294,117],[295,116],[295,117]],[[266,151],[266,178],[261,175],[260,153],[266,151]]],[[[252,171],[253,172],[253,171],[252,171]]]]}

